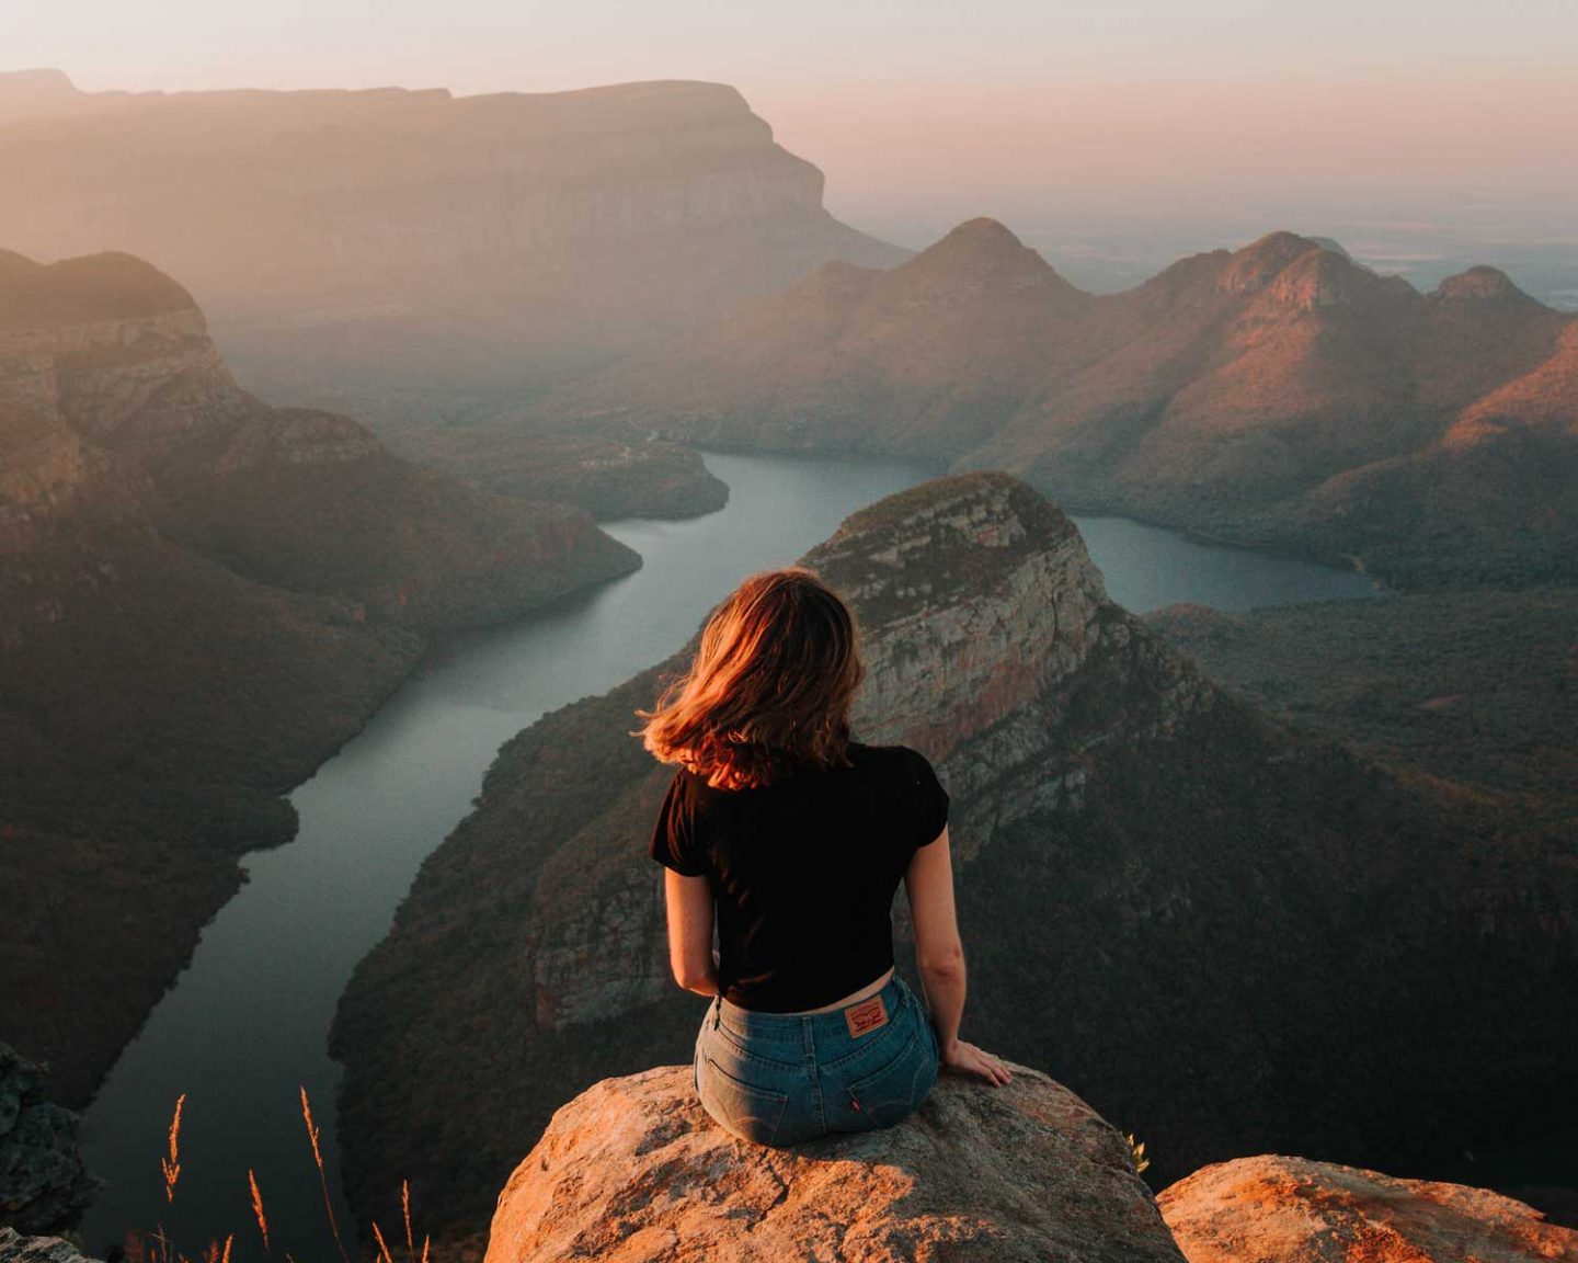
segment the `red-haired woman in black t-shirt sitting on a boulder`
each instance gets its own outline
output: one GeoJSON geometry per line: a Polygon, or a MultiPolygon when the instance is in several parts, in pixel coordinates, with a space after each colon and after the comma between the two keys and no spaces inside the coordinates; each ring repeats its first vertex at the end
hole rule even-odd
{"type": "Polygon", "coordinates": [[[849,606],[810,570],[775,570],[718,606],[690,673],[639,712],[647,750],[680,764],[650,854],[674,977],[713,998],[696,1088],[762,1145],[888,1127],[939,1062],[1008,1081],[959,1039],[948,796],[914,750],[851,740],[862,674],[849,606]],[[893,973],[901,878],[925,1007],[893,973]]]}

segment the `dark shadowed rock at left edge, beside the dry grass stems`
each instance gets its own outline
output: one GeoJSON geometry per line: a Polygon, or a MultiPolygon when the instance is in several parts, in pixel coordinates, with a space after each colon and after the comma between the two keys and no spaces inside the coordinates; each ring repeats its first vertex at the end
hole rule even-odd
{"type": "MultiPolygon", "coordinates": [[[[0,1044],[0,1228],[69,1225],[95,1182],[77,1149],[77,1116],[44,1099],[44,1069],[0,1044]]],[[[0,1233],[0,1258],[5,1258],[0,1233]]]]}

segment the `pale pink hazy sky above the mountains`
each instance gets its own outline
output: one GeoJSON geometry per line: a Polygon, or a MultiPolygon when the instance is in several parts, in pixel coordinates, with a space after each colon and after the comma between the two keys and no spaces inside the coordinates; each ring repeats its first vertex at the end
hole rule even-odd
{"type": "Polygon", "coordinates": [[[724,81],[895,237],[1450,201],[1578,243],[1578,0],[0,0],[0,58],[90,90],[724,81]]]}

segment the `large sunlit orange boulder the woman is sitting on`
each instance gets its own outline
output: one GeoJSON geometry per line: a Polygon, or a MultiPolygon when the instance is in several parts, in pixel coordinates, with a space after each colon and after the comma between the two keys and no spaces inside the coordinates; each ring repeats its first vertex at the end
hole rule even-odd
{"type": "Polygon", "coordinates": [[[565,1105],[499,1197],[486,1263],[1182,1263],[1124,1137],[1016,1067],[944,1075],[885,1132],[792,1151],[735,1140],[688,1066],[565,1105]]]}

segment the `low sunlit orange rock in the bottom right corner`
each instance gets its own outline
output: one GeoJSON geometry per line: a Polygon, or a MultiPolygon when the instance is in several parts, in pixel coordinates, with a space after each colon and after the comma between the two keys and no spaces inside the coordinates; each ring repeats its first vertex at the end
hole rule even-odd
{"type": "Polygon", "coordinates": [[[1188,1263],[1578,1263],[1578,1231],[1483,1189],[1243,1157],[1166,1189],[1188,1263]]]}

